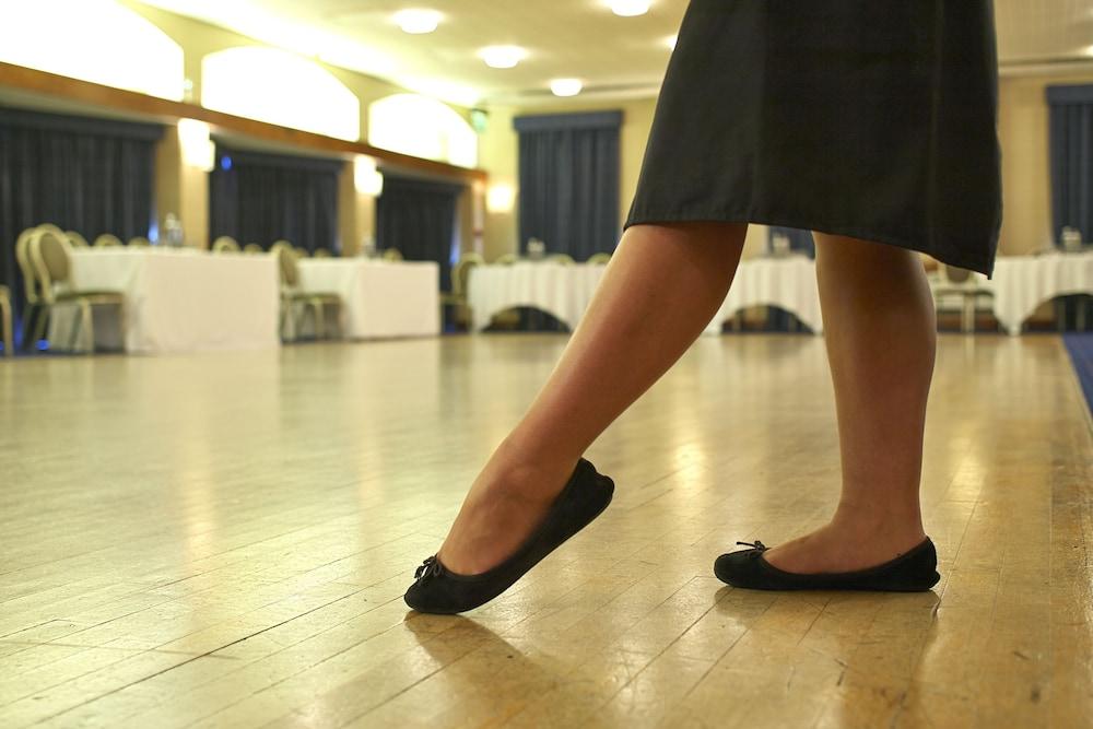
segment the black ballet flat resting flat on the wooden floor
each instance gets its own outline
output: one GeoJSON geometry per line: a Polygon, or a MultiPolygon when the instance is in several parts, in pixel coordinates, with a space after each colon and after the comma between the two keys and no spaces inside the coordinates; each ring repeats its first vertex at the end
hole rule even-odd
{"type": "Polygon", "coordinates": [[[873,590],[878,592],[925,592],[938,584],[938,552],[929,538],[891,562],[855,572],[798,575],[778,569],[763,558],[763,542],[737,542],[750,550],[722,554],[714,563],[714,574],[732,587],[752,590],[873,590]]]}

